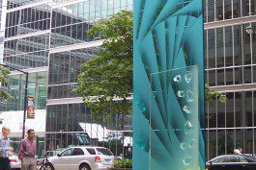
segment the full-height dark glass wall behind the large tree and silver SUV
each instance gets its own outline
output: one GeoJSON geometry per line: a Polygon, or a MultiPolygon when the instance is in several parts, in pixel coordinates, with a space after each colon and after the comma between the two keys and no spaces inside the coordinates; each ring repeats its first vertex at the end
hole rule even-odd
{"type": "Polygon", "coordinates": [[[94,45],[95,40],[103,39],[103,36],[100,39],[87,36],[87,31],[113,13],[132,10],[132,1],[54,2],[57,5],[52,8],[51,18],[52,52],[49,54],[45,150],[58,150],[72,145],[97,145],[107,147],[120,156],[132,145],[130,112],[127,115],[114,113],[115,116],[110,119],[102,115],[100,121],[96,121],[80,96],[71,91],[77,86],[80,65],[95,58],[100,50],[99,45],[94,45]],[[75,47],[88,43],[91,47],[75,47]],[[56,100],[58,104],[54,103],[56,100]]]}

